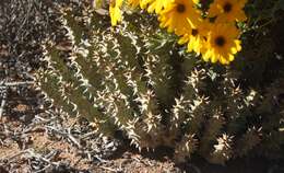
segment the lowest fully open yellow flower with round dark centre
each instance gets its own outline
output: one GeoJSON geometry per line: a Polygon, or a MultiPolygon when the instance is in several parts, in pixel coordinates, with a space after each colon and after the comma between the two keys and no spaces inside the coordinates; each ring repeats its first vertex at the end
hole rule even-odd
{"type": "Polygon", "coordinates": [[[233,24],[212,24],[206,37],[202,58],[205,61],[220,61],[228,65],[234,60],[234,55],[240,51],[239,31],[233,24]]]}

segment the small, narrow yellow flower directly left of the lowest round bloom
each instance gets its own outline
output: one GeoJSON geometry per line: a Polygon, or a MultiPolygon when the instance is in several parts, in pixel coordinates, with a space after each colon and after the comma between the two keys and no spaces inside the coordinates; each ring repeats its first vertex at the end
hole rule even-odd
{"type": "Polygon", "coordinates": [[[179,44],[188,43],[188,51],[196,51],[197,55],[200,55],[203,45],[205,43],[205,36],[208,34],[208,21],[200,21],[197,24],[190,22],[191,30],[188,31],[179,41],[179,44]]]}

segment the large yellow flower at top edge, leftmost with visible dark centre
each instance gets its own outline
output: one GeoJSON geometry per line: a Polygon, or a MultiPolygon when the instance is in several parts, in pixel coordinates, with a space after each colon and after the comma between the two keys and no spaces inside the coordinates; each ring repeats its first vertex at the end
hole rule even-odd
{"type": "Polygon", "coordinates": [[[196,23],[199,18],[200,13],[193,8],[192,0],[175,0],[161,12],[158,20],[161,27],[167,27],[168,32],[180,36],[191,31],[188,20],[196,23]]]}

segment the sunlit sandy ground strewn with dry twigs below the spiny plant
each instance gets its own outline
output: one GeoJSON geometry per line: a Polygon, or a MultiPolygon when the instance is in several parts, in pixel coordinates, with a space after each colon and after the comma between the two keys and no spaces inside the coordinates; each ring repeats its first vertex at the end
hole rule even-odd
{"type": "Polygon", "coordinates": [[[36,115],[28,125],[8,118],[0,126],[0,168],[8,172],[178,170],[173,162],[130,152],[116,157],[122,143],[98,136],[86,119],[70,118],[59,111],[36,115]]]}

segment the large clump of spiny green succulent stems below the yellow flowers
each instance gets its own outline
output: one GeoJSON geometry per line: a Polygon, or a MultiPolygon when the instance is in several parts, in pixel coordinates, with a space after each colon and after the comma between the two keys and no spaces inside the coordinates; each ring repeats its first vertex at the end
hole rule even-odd
{"type": "Polygon", "coordinates": [[[126,18],[110,27],[88,7],[63,8],[37,72],[48,102],[140,149],[171,147],[177,161],[281,157],[284,65],[273,38],[248,34],[234,65],[220,67],[186,54],[151,16],[126,18]]]}

